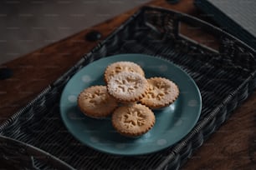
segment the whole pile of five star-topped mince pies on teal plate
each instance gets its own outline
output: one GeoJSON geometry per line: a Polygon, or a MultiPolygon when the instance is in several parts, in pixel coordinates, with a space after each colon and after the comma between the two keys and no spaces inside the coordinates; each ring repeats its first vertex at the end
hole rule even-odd
{"type": "Polygon", "coordinates": [[[88,117],[111,117],[115,130],[126,137],[147,133],[155,124],[151,109],[166,107],[178,95],[177,85],[164,77],[146,79],[134,62],[114,62],[104,72],[105,86],[85,88],[78,97],[81,112],[88,117]]]}

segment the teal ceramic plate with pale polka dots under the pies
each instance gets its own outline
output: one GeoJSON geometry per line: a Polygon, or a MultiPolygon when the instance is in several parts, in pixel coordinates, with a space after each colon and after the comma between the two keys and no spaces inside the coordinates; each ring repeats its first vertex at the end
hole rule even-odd
{"type": "Polygon", "coordinates": [[[195,126],[201,107],[200,92],[186,72],[172,62],[142,54],[120,54],[90,63],[69,80],[60,99],[61,117],[75,138],[100,152],[118,155],[154,153],[172,146],[195,126]],[[180,89],[176,102],[163,110],[154,111],[156,124],[141,138],[122,137],[112,128],[110,117],[86,117],[77,107],[79,92],[92,85],[104,85],[105,67],[118,61],[136,62],[144,69],[146,77],[169,78],[180,89]]]}

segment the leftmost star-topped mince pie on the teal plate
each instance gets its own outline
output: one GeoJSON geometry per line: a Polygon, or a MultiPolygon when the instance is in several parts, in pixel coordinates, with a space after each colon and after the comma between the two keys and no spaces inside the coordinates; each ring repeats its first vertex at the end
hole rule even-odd
{"type": "Polygon", "coordinates": [[[85,88],[78,97],[79,109],[88,117],[106,117],[117,105],[115,98],[109,95],[105,86],[85,88]]]}

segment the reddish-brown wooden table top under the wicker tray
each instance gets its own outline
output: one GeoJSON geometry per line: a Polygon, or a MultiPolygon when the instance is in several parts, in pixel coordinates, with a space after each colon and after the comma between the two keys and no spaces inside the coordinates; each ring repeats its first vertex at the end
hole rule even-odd
{"type": "MultiPolygon", "coordinates": [[[[149,2],[150,5],[166,7],[199,18],[204,15],[193,5],[192,0],[169,4],[165,0],[149,2]]],[[[74,65],[81,56],[90,52],[100,42],[89,42],[84,36],[91,30],[107,37],[129,18],[135,9],[123,13],[95,27],[85,29],[59,42],[19,57],[1,67],[13,70],[13,77],[0,80],[0,122],[10,117],[29,100],[38,95],[56,78],[74,65]]],[[[203,37],[199,33],[193,37],[203,37]]],[[[256,93],[239,107],[233,116],[193,154],[183,169],[255,169],[256,168],[256,93]]],[[[0,165],[1,167],[1,165],[0,165]]]]}

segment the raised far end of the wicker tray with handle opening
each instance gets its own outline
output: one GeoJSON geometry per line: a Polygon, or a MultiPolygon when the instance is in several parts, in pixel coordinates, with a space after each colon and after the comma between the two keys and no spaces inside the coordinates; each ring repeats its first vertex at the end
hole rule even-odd
{"type": "Polygon", "coordinates": [[[256,70],[255,50],[238,38],[212,24],[162,7],[143,7],[144,22],[159,35],[176,41],[191,42],[210,53],[225,56],[228,61],[246,70],[256,70]],[[202,33],[202,35],[200,35],[202,33]],[[207,39],[201,39],[206,36],[207,39]],[[195,38],[197,37],[197,38],[195,38]],[[253,62],[252,62],[253,61],[253,62]]]}

